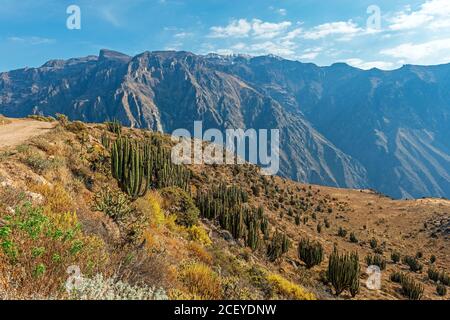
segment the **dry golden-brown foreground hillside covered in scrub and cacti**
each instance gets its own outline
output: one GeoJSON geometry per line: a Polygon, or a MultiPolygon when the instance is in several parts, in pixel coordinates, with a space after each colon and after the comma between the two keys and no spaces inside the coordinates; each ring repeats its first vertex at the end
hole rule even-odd
{"type": "Polygon", "coordinates": [[[347,290],[336,297],[325,280],[335,244],[359,255],[355,299],[405,299],[393,271],[422,285],[423,299],[446,298],[427,272],[450,265],[447,200],[305,185],[261,176],[250,164],[173,167],[164,162],[170,139],[160,133],[35,119],[54,128],[0,154],[0,299],[350,299],[347,290]],[[157,155],[151,188],[135,197],[127,193],[143,184],[123,192],[111,170],[110,150],[125,137],[157,155]],[[221,198],[236,207],[222,211],[221,198]],[[212,208],[222,214],[207,218],[212,208]],[[245,222],[235,220],[242,213],[245,222]],[[323,247],[323,261],[311,269],[297,254],[301,238],[323,247]],[[365,258],[375,252],[386,262],[378,291],[365,286],[365,258]],[[392,262],[393,252],[400,262],[392,262]],[[411,260],[422,270],[411,271],[406,256],[417,256],[411,260]],[[69,266],[91,279],[74,296],[64,287],[69,266]]]}

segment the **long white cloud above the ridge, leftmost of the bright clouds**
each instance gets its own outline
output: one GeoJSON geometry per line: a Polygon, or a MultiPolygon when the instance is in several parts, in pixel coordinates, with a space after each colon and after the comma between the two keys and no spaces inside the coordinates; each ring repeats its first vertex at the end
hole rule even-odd
{"type": "Polygon", "coordinates": [[[232,20],[227,26],[211,27],[210,38],[245,38],[250,35],[259,39],[272,39],[280,35],[291,26],[291,22],[280,23],[264,22],[259,19],[247,21],[247,19],[232,20]]]}

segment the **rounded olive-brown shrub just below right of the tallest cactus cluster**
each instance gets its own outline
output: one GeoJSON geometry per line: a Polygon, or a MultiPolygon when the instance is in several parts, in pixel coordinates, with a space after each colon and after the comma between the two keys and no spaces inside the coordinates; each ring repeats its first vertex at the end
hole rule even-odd
{"type": "Polygon", "coordinates": [[[177,224],[185,227],[197,224],[200,211],[184,190],[178,187],[165,188],[161,190],[161,196],[164,209],[176,215],[177,224]]]}

